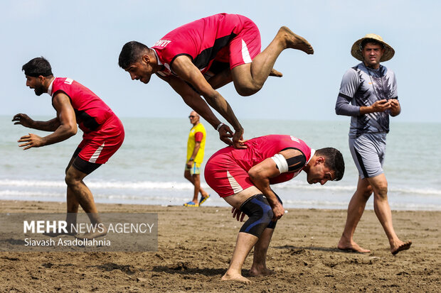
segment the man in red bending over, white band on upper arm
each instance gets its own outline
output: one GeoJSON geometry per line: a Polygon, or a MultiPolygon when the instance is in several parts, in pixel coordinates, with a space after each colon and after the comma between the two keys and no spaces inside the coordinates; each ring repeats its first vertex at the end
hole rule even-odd
{"type": "Polygon", "coordinates": [[[335,148],[313,150],[294,136],[271,135],[245,142],[246,150],[223,148],[211,156],[205,167],[208,185],[233,206],[233,217],[242,221],[230,266],[222,280],[245,284],[243,262],[254,247],[249,275],[271,275],[266,255],[276,222],[285,214],[282,201],[270,184],[286,182],[302,170],[309,184],[340,180],[344,174],[343,156],[335,148]]]}

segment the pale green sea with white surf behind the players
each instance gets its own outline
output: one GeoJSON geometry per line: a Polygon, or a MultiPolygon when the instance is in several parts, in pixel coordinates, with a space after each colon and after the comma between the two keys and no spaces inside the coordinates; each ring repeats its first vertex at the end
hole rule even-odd
{"type": "MultiPolygon", "coordinates": [[[[65,201],[64,174],[82,133],[54,145],[22,150],[17,140],[28,133],[47,135],[14,125],[0,116],[0,199],[65,201]]],[[[36,117],[48,120],[52,117],[36,117]]],[[[184,179],[188,118],[121,118],[126,131],[122,147],[110,160],[85,178],[95,201],[120,204],[182,205],[193,197],[184,179]]],[[[207,140],[204,163],[225,147],[205,121],[207,140]]],[[[325,185],[308,184],[306,175],[272,189],[286,209],[346,209],[356,190],[358,172],[349,153],[349,118],[339,121],[243,120],[245,139],[267,134],[289,134],[311,148],[334,147],[343,153],[344,178],[325,185]]],[[[391,122],[383,169],[388,199],[395,210],[441,210],[440,123],[391,122]]],[[[206,206],[228,206],[208,187],[206,206]]],[[[367,209],[373,209],[373,199],[367,209]]]]}

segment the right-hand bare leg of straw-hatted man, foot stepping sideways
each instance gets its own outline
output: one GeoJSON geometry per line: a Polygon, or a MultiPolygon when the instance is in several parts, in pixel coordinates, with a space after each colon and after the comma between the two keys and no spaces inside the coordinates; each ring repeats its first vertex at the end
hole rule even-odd
{"type": "Polygon", "coordinates": [[[388,203],[388,182],[386,180],[386,175],[381,174],[373,178],[368,178],[369,183],[371,183],[373,189],[373,209],[378,220],[383,226],[386,236],[388,236],[390,244],[390,253],[393,255],[397,254],[401,250],[407,250],[412,245],[411,241],[403,242],[400,241],[392,224],[392,211],[390,211],[390,206],[388,203]]]}

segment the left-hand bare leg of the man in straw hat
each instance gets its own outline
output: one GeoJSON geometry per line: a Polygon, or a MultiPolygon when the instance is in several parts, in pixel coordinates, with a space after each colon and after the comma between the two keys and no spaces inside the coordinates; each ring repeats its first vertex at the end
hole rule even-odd
{"type": "Polygon", "coordinates": [[[351,201],[349,201],[346,225],[344,226],[344,231],[341,235],[337,248],[357,253],[371,252],[371,250],[361,248],[353,238],[357,224],[360,221],[366,207],[366,201],[368,201],[369,197],[371,197],[371,194],[372,188],[368,180],[358,177],[357,189],[352,196],[351,201]]]}

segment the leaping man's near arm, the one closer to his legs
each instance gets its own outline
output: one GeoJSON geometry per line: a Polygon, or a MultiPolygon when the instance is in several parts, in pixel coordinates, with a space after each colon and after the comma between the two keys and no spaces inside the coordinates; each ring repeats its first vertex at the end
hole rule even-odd
{"type": "Polygon", "coordinates": [[[230,104],[217,92],[203,77],[198,68],[193,65],[190,58],[186,55],[176,57],[173,62],[172,69],[179,77],[195,87],[198,92],[206,99],[208,104],[213,107],[219,114],[225,118],[231,126],[233,126],[235,133],[233,135],[233,144],[236,148],[246,148],[243,143],[243,128],[240,125],[238,118],[236,118],[230,104]]]}

